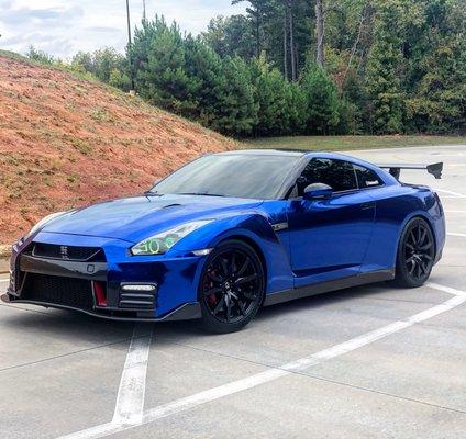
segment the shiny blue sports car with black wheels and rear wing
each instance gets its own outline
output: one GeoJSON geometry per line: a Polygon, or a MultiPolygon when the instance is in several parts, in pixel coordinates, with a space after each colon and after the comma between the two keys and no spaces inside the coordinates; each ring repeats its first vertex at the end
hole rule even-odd
{"type": "Polygon", "coordinates": [[[203,156],[145,194],[56,213],[13,246],[3,301],[130,320],[244,327],[260,306],[370,282],[415,288],[445,241],[403,168],[330,153],[203,156]],[[387,168],[387,170],[384,169],[387,168]]]}

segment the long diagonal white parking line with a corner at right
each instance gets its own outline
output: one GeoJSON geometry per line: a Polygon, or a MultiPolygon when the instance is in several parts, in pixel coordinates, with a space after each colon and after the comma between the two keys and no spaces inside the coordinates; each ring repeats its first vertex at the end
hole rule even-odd
{"type": "MultiPolygon", "coordinates": [[[[446,313],[463,303],[466,302],[466,293],[450,286],[443,286],[435,283],[429,283],[426,286],[453,294],[454,297],[440,305],[433,306],[422,313],[415,314],[404,320],[398,320],[390,325],[384,326],[379,329],[364,334],[359,337],[352,338],[345,342],[333,346],[329,349],[324,349],[320,352],[313,353],[310,357],[299,359],[297,361],[284,364],[280,368],[271,368],[265,372],[256,373],[242,380],[236,380],[231,383],[220,385],[218,387],[209,389],[207,391],[196,393],[193,395],[174,401],[168,404],[160,405],[158,407],[144,412],[142,420],[137,425],[118,425],[114,423],[108,423],[100,426],[96,426],[82,431],[64,436],[58,439],[96,439],[110,436],[120,431],[129,430],[141,425],[154,423],[157,419],[175,415],[177,413],[186,412],[202,404],[220,399],[222,397],[254,389],[260,384],[265,384],[275,381],[279,378],[289,375],[293,372],[301,372],[306,369],[319,364],[322,361],[330,360],[340,357],[344,353],[352,352],[358,348],[365,347],[374,341],[380,340],[391,334],[398,333],[402,329],[409,328],[418,323],[425,322],[434,316],[442,313],[446,313]]],[[[138,410],[137,406],[137,410],[138,410]]]]}

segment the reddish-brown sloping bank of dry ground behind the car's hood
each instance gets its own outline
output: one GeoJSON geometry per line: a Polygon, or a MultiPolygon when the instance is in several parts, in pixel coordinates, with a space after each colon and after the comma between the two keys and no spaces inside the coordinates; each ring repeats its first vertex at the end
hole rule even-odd
{"type": "Polygon", "coordinates": [[[42,216],[141,193],[235,144],[137,98],[0,54],[0,244],[42,216]]]}

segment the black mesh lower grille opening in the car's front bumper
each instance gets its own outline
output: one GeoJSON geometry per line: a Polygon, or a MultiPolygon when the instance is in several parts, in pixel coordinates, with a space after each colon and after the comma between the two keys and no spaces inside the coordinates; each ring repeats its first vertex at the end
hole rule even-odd
{"type": "Polygon", "coordinates": [[[82,279],[27,273],[21,299],[92,309],[92,283],[82,279]]]}

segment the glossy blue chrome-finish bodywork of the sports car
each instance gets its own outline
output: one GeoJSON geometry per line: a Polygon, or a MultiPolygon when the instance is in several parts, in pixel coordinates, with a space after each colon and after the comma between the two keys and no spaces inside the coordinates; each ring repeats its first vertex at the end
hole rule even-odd
{"type": "MultiPolygon", "coordinates": [[[[286,198],[147,195],[96,204],[54,218],[13,247],[13,282],[9,293],[14,299],[20,288],[21,254],[37,243],[102,249],[110,305],[118,308],[122,283],[155,283],[157,297],[152,311],[155,318],[198,301],[198,285],[208,256],[195,256],[193,251],[212,249],[225,239],[244,240],[256,250],[266,273],[266,294],[378,271],[393,272],[401,233],[415,216],[422,216],[431,225],[436,261],[440,259],[445,221],[434,192],[399,183],[374,165],[336,154],[303,155],[300,167],[312,157],[343,158],[362,165],[374,170],[384,184],[313,202],[286,198]],[[211,222],[180,239],[165,255],[132,256],[131,247],[141,240],[197,219],[211,222]]],[[[290,176],[290,182],[296,177],[290,176]]],[[[49,262],[51,267],[53,263],[49,262]]],[[[71,262],[60,261],[62,268],[67,264],[73,272],[71,262]]],[[[86,264],[79,267],[81,274],[91,270],[86,264]]]]}

